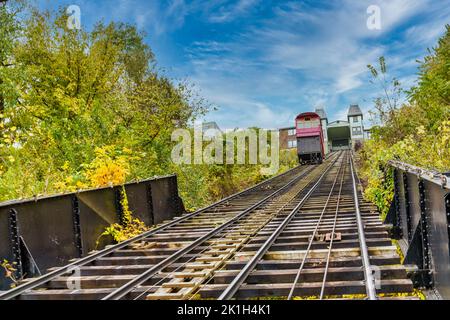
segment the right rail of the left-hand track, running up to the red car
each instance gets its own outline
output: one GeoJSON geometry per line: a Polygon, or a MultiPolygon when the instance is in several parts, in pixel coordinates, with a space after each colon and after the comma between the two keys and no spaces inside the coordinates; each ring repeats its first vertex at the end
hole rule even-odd
{"type": "Polygon", "coordinates": [[[312,167],[311,170],[309,170],[309,171],[306,170],[306,172],[304,172],[300,176],[294,178],[293,180],[291,180],[289,183],[287,183],[286,185],[284,185],[283,187],[281,187],[277,191],[273,192],[272,194],[268,195],[264,199],[258,201],[256,204],[254,204],[254,205],[250,206],[249,208],[245,209],[244,211],[240,212],[238,215],[236,215],[235,217],[229,219],[224,224],[222,224],[222,225],[214,228],[213,230],[209,231],[207,234],[205,234],[204,236],[198,238],[194,242],[190,243],[188,246],[186,246],[186,247],[176,251],[175,253],[173,253],[172,255],[168,256],[167,258],[165,258],[161,262],[159,262],[156,265],[152,266],[150,269],[148,269],[147,271],[145,271],[141,275],[135,277],[131,281],[127,282],[123,286],[117,288],[116,290],[114,290],[113,292],[111,292],[110,294],[105,296],[102,300],[120,300],[121,298],[125,297],[128,293],[133,291],[134,288],[136,288],[137,286],[143,284],[148,279],[150,279],[152,276],[154,276],[157,272],[163,270],[164,268],[166,268],[167,266],[169,266],[173,262],[177,261],[184,254],[192,251],[193,249],[198,247],[203,242],[205,242],[205,241],[209,240],[210,238],[214,237],[215,235],[220,233],[222,230],[226,229],[227,227],[231,226],[232,224],[234,224],[235,222],[239,221],[243,217],[247,216],[250,212],[252,212],[256,208],[260,207],[262,204],[264,204],[268,200],[272,199],[273,197],[277,196],[278,194],[283,192],[285,189],[287,189],[290,186],[292,186],[298,180],[300,180],[301,178],[306,176],[308,173],[310,173],[313,168],[314,167],[312,167]]]}

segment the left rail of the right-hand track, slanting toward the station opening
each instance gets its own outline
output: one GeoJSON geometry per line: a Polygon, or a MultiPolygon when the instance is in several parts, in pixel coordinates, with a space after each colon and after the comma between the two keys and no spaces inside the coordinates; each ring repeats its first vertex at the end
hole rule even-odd
{"type": "Polygon", "coordinates": [[[300,200],[300,202],[295,206],[295,208],[289,213],[289,215],[283,220],[283,222],[278,226],[278,228],[270,235],[270,237],[264,242],[261,248],[255,253],[255,255],[250,259],[247,264],[242,268],[239,274],[233,279],[233,281],[228,285],[228,287],[222,292],[219,296],[218,300],[230,300],[239,290],[241,285],[247,279],[249,274],[254,270],[258,262],[264,257],[270,247],[273,245],[278,236],[283,232],[286,226],[291,222],[294,216],[297,214],[297,211],[303,206],[307,199],[311,196],[311,194],[316,190],[317,186],[320,184],[322,179],[326,176],[328,171],[336,163],[337,159],[329,165],[329,167],[320,175],[315,184],[311,187],[308,193],[300,200]]]}

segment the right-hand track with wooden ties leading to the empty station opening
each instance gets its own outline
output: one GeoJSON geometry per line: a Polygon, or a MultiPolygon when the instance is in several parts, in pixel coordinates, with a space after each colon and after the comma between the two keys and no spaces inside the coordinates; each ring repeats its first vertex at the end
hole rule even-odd
{"type": "Polygon", "coordinates": [[[417,299],[350,153],[296,207],[274,218],[202,286],[218,299],[417,299]]]}

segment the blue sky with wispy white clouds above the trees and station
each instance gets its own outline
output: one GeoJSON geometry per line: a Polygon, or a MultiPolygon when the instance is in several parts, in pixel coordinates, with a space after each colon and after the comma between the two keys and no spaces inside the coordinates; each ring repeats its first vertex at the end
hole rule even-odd
{"type": "Polygon", "coordinates": [[[325,107],[345,119],[380,94],[367,64],[387,59],[391,76],[414,84],[417,59],[450,23],[447,0],[35,0],[42,8],[81,8],[95,21],[135,23],[147,34],[159,67],[193,82],[218,111],[222,128],[291,126],[295,115],[325,107]],[[369,30],[367,8],[381,11],[369,30]]]}

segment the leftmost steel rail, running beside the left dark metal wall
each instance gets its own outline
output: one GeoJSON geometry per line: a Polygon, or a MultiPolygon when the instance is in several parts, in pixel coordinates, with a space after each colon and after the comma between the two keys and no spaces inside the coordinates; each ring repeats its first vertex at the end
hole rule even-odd
{"type": "MultiPolygon", "coordinates": [[[[197,210],[195,212],[192,212],[190,214],[187,214],[187,215],[181,216],[179,218],[176,218],[176,219],[174,219],[171,222],[168,222],[168,223],[163,224],[163,225],[161,225],[159,227],[153,228],[153,229],[151,229],[151,230],[149,230],[147,232],[144,232],[144,233],[142,233],[142,234],[140,234],[140,235],[138,235],[136,237],[133,237],[133,238],[128,239],[128,240],[125,240],[125,241],[123,241],[123,242],[121,242],[119,244],[109,246],[108,248],[105,248],[103,250],[95,252],[95,253],[93,253],[91,255],[88,255],[88,256],[86,256],[84,258],[78,259],[78,260],[76,260],[76,261],[74,261],[72,263],[67,264],[64,267],[58,268],[58,269],[56,269],[54,271],[51,271],[51,272],[49,272],[47,274],[44,274],[43,276],[40,276],[40,277],[38,277],[38,278],[36,278],[34,280],[31,280],[29,282],[21,284],[21,285],[15,287],[13,289],[10,289],[10,290],[5,291],[5,292],[1,292],[0,293],[0,300],[10,300],[10,299],[13,299],[13,298],[21,295],[22,293],[25,293],[26,291],[29,291],[29,290],[41,287],[41,286],[45,285],[46,283],[48,283],[49,281],[51,281],[52,279],[54,279],[56,277],[59,277],[59,276],[62,276],[64,274],[66,274],[66,273],[72,272],[74,270],[74,268],[85,266],[86,264],[91,263],[91,262],[95,261],[98,258],[102,258],[102,257],[104,257],[106,255],[109,255],[109,254],[113,253],[116,250],[125,248],[128,245],[130,245],[130,244],[132,244],[132,243],[134,243],[136,241],[145,239],[145,238],[147,238],[147,237],[149,237],[149,236],[151,236],[151,235],[153,235],[153,234],[155,234],[157,232],[164,231],[164,230],[166,230],[166,229],[168,229],[168,228],[170,228],[170,227],[172,227],[172,226],[174,226],[174,225],[176,225],[176,224],[178,224],[180,222],[183,222],[183,221],[186,221],[186,220],[188,220],[190,218],[196,217],[197,215],[205,212],[206,210],[209,210],[211,208],[214,208],[215,206],[221,205],[223,203],[226,203],[227,201],[233,200],[233,199],[238,198],[238,197],[240,197],[240,196],[242,196],[242,195],[244,195],[244,194],[246,194],[248,192],[256,190],[257,188],[259,188],[259,187],[261,187],[261,186],[263,186],[265,184],[269,184],[269,183],[273,182],[275,179],[279,179],[281,177],[284,177],[284,176],[294,172],[295,170],[298,170],[299,168],[300,168],[300,166],[297,166],[297,167],[295,167],[293,169],[290,169],[290,170],[288,170],[288,171],[286,171],[286,172],[284,172],[284,173],[282,173],[280,175],[277,175],[277,176],[275,176],[275,177],[273,177],[271,179],[262,181],[262,182],[258,183],[255,186],[249,187],[249,188],[247,188],[247,189],[245,189],[245,190],[243,190],[243,191],[241,191],[239,193],[236,193],[234,195],[230,195],[228,197],[225,197],[222,200],[219,200],[219,201],[217,201],[217,202],[215,202],[215,203],[213,203],[213,204],[211,204],[209,206],[206,206],[206,207],[204,207],[202,209],[199,209],[199,210],[197,210]]],[[[313,168],[313,166],[308,167],[305,170],[305,172],[306,173],[309,172],[308,170],[312,170],[311,168],[313,168]]],[[[300,175],[303,176],[305,172],[301,173],[300,175]]]]}

